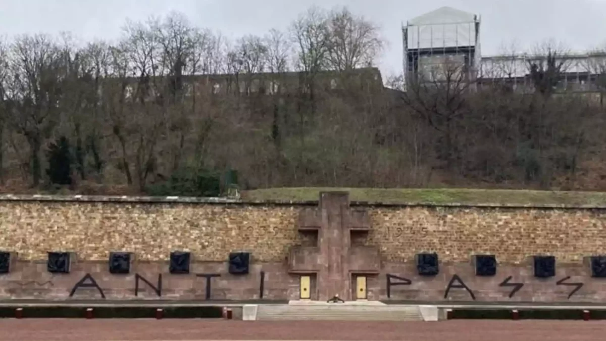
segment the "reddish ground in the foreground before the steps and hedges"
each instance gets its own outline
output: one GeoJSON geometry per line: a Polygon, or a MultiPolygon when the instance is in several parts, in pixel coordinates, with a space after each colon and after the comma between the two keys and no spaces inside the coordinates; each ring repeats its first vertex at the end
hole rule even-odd
{"type": "Polygon", "coordinates": [[[602,321],[243,322],[168,319],[0,320],[0,341],[593,341],[605,339],[606,322],[602,321]]]}

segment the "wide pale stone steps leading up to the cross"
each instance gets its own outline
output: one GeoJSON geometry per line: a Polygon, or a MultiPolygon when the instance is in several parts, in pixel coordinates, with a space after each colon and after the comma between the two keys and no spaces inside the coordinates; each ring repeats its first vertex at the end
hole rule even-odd
{"type": "Polygon", "coordinates": [[[418,306],[259,305],[256,320],[422,321],[418,306]]]}

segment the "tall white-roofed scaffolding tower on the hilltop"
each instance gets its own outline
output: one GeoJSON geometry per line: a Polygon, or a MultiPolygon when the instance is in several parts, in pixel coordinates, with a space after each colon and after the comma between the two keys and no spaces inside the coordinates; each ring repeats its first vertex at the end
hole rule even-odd
{"type": "Polygon", "coordinates": [[[460,63],[468,79],[475,79],[481,58],[479,34],[479,16],[452,7],[411,19],[402,25],[405,80],[435,78],[435,70],[447,61],[460,63]]]}

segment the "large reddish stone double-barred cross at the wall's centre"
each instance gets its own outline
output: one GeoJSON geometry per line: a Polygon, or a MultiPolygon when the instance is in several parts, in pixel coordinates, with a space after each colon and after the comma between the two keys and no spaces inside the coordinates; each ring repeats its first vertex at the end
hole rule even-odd
{"type": "Polygon", "coordinates": [[[351,231],[370,231],[370,219],[367,212],[350,208],[348,192],[322,192],[319,208],[301,212],[298,229],[318,231],[318,245],[293,247],[289,272],[316,274],[318,300],[336,294],[351,300],[352,275],[378,274],[378,248],[351,246],[351,231]]]}

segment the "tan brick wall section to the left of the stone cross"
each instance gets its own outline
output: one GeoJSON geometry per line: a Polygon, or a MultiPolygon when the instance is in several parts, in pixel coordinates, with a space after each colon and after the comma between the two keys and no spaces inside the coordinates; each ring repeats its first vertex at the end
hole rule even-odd
{"type": "Polygon", "coordinates": [[[0,249],[23,260],[45,260],[48,251],[107,260],[127,251],[153,261],[181,250],[205,261],[224,261],[230,251],[281,261],[302,243],[297,214],[293,206],[230,203],[0,201],[0,249]]]}

